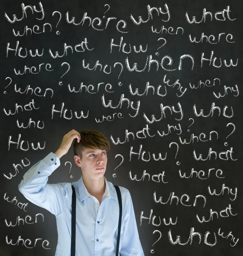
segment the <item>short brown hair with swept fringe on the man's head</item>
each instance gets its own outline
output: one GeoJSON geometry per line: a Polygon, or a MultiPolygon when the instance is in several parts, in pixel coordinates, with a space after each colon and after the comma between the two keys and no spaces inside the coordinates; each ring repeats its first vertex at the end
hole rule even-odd
{"type": "Polygon", "coordinates": [[[101,150],[106,150],[106,153],[110,150],[110,143],[107,137],[105,137],[101,132],[95,130],[84,130],[80,132],[81,140],[75,139],[73,143],[73,151],[75,155],[78,155],[80,159],[82,158],[82,152],[87,148],[98,148],[101,150]]]}

